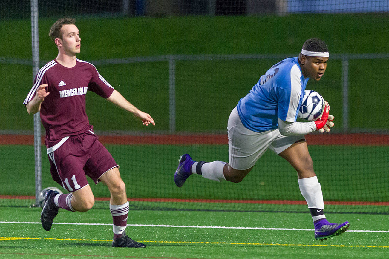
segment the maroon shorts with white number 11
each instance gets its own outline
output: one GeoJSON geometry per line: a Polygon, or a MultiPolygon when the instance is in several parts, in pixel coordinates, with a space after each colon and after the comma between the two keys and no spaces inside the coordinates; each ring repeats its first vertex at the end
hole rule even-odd
{"type": "Polygon", "coordinates": [[[97,136],[89,131],[70,136],[49,154],[49,161],[54,181],[70,192],[88,185],[86,176],[97,184],[104,173],[119,167],[97,136]]]}

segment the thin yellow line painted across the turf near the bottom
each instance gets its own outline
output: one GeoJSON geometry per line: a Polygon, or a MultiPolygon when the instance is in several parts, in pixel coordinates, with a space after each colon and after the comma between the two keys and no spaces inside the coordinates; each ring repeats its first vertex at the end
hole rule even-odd
{"type": "MultiPolygon", "coordinates": [[[[66,241],[96,241],[96,242],[112,242],[112,240],[99,240],[99,239],[74,239],[74,238],[37,238],[37,237],[5,237],[0,236],[0,241],[6,240],[66,240],[66,241]]],[[[298,246],[298,247],[369,247],[369,248],[389,248],[389,246],[378,245],[305,245],[305,244],[268,244],[268,243],[229,243],[229,242],[190,242],[190,241],[139,241],[144,243],[182,243],[182,244],[217,244],[217,245],[276,245],[276,246],[298,246]]]]}

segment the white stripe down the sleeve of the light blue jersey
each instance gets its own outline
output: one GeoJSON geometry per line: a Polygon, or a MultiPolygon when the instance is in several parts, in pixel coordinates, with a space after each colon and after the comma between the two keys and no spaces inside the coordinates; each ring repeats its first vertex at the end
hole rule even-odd
{"type": "Polygon", "coordinates": [[[297,64],[294,64],[291,68],[291,96],[289,99],[288,113],[286,115],[287,122],[296,121],[297,108],[301,96],[301,85],[303,84],[300,79],[301,76],[300,68],[298,68],[297,64]]]}

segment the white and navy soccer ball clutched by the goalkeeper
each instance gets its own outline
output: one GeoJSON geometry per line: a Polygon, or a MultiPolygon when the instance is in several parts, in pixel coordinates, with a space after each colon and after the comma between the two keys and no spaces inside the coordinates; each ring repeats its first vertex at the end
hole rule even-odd
{"type": "Polygon", "coordinates": [[[313,90],[305,90],[303,102],[298,109],[298,117],[311,122],[316,120],[324,106],[324,98],[313,90]]]}

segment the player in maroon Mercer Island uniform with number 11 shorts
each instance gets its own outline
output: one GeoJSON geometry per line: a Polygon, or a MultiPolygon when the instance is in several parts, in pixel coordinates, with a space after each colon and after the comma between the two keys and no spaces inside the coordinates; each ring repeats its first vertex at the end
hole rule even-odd
{"type": "Polygon", "coordinates": [[[146,247],[126,235],[128,201],[126,187],[120,177],[119,165],[98,141],[85,112],[87,90],[95,92],[116,106],[132,113],[143,125],[155,125],[151,116],[138,110],[115,90],[93,64],[76,58],[81,38],[74,19],[59,19],[51,26],[49,36],[58,47],[58,56],[43,66],[26,97],[29,114],[40,111],[46,129],[45,144],[51,175],[69,191],[49,191],[40,216],[49,231],[58,209],[86,212],[95,203],[86,176],[97,184],[102,181],[111,194],[113,247],[146,247]]]}

